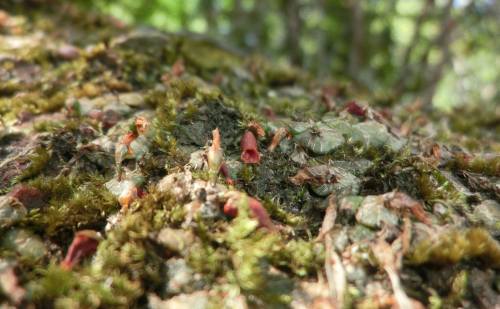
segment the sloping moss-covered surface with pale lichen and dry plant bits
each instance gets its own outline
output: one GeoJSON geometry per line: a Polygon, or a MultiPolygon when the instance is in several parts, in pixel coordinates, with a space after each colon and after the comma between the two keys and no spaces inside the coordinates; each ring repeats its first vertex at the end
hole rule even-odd
{"type": "Polygon", "coordinates": [[[203,37],[27,8],[0,4],[0,306],[498,301],[488,128],[467,135],[452,117],[452,131],[414,106],[388,116],[334,80],[203,37]],[[228,175],[214,184],[216,128],[228,175]],[[258,164],[240,157],[247,130],[258,164]],[[99,244],[67,269],[82,230],[99,244]]]}

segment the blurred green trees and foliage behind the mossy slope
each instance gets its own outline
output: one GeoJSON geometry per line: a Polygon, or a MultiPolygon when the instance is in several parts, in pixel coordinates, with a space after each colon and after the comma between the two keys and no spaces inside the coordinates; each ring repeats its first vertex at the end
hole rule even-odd
{"type": "Polygon", "coordinates": [[[204,33],[356,85],[378,103],[499,101],[494,0],[115,0],[84,5],[127,23],[204,33]],[[374,96],[375,95],[375,96],[374,96]]]}

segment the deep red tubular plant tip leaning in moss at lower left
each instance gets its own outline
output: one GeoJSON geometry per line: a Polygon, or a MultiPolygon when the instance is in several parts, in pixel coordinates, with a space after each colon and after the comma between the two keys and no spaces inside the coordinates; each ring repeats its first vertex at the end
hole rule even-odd
{"type": "Polygon", "coordinates": [[[84,230],[77,232],[69,246],[66,257],[61,262],[61,267],[66,270],[72,269],[82,259],[94,254],[98,244],[99,236],[95,231],[84,230]]]}

